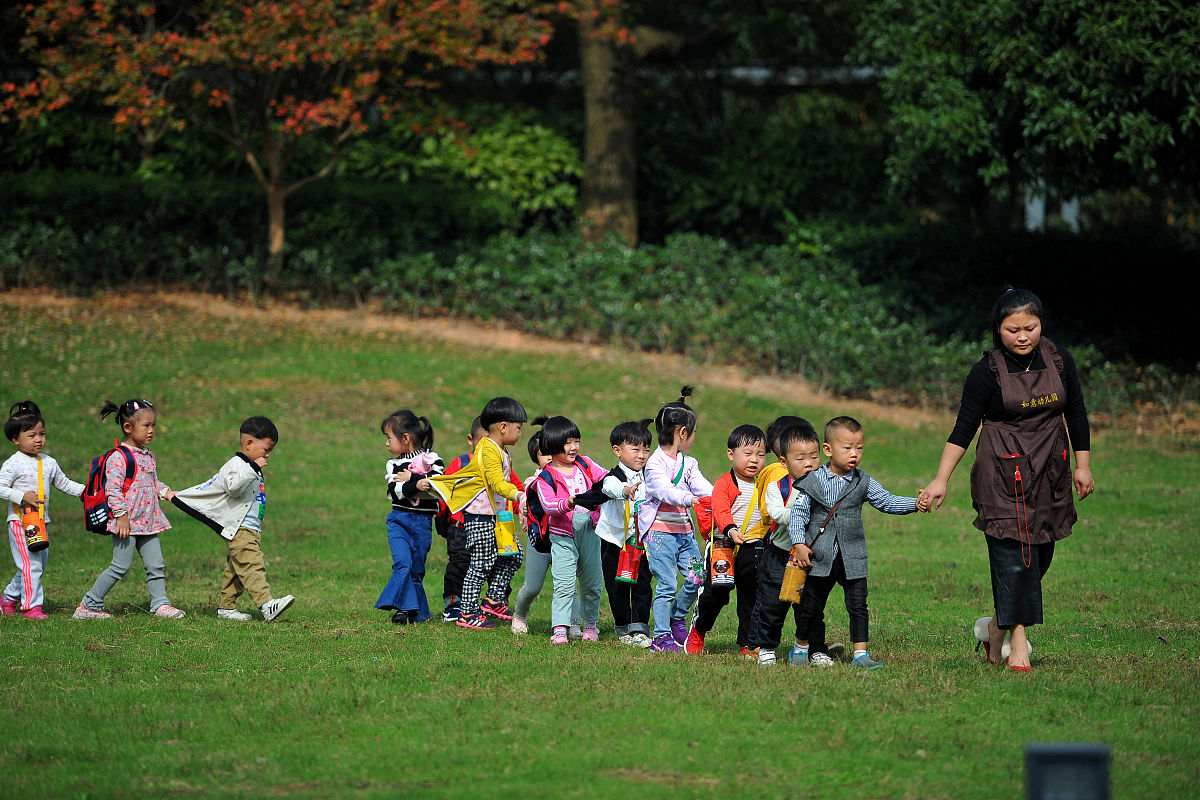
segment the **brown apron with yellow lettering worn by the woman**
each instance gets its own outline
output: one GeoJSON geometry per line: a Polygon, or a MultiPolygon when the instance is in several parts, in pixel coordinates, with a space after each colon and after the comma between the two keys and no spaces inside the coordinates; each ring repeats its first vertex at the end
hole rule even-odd
{"type": "Polygon", "coordinates": [[[971,468],[974,527],[995,539],[1044,545],[1075,523],[1062,356],[1050,339],[1038,350],[1046,367],[1009,373],[1003,348],[989,350],[1004,410],[1014,421],[984,420],[971,468]]]}

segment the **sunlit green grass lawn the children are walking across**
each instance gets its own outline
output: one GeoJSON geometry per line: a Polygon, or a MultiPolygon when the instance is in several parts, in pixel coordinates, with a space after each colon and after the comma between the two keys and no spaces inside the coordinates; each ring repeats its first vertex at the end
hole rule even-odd
{"type": "MultiPolygon", "coordinates": [[[[187,619],[145,613],[134,565],[109,595],[115,619],[74,621],[110,548],[76,524],[73,500],[54,497],[50,619],[0,619],[5,796],[1020,796],[1024,747],[1046,740],[1108,742],[1114,796],[1187,796],[1200,783],[1195,443],[1096,437],[1099,488],[1057,549],[1030,675],[971,650],[990,589],[967,463],[936,515],[866,515],[882,670],[748,664],[732,609],[701,658],[617,644],[606,608],[600,645],[552,649],[547,636],[504,628],[394,628],[373,608],[390,569],[378,428],[388,411],[427,414],[450,457],[484,402],[511,393],[530,415],[571,416],[584,451],[607,463],[608,428],[652,416],[690,374],[692,452],[715,479],[737,423],[781,413],[820,423],[842,409],[748,397],[706,383],[700,367],[629,354],[472,350],[286,324],[270,311],[227,319],[7,299],[4,402],[41,404],[47,452],[76,480],[116,432],[96,417],[104,399],[158,404],[154,449],[176,488],[223,462],[241,419],[275,419],[263,548],[276,594],[298,601],[271,625],[218,622],[223,542],[169,510],[167,588],[187,619]]],[[[860,416],[864,467],[916,493],[949,420],[860,416]]],[[[523,441],[515,463],[529,471],[523,441]]],[[[439,539],[430,561],[437,604],[439,539]]],[[[548,628],[548,595],[547,584],[535,631],[548,628]]],[[[845,640],[839,597],[829,634],[845,640]]]]}

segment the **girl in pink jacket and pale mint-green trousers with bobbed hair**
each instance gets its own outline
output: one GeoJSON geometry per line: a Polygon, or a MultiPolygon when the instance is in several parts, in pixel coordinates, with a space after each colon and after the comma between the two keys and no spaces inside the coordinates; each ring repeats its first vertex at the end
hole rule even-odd
{"type": "Polygon", "coordinates": [[[554,579],[551,604],[554,632],[550,640],[553,644],[566,644],[569,640],[575,579],[578,577],[582,638],[584,642],[599,642],[600,594],[604,589],[600,537],[596,536],[592,512],[576,507],[575,495],[602,481],[608,470],[580,455],[580,428],[565,416],[552,416],[545,421],[540,446],[541,452],[550,456],[550,464],[538,473],[533,491],[538,493],[544,512],[541,524],[550,539],[550,571],[554,579]]]}

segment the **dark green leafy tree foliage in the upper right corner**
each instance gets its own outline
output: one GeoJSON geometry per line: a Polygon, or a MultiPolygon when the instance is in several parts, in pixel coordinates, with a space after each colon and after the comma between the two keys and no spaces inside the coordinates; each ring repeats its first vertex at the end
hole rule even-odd
{"type": "Polygon", "coordinates": [[[893,185],[994,196],[1200,188],[1200,6],[1182,0],[877,0],[893,185]]]}

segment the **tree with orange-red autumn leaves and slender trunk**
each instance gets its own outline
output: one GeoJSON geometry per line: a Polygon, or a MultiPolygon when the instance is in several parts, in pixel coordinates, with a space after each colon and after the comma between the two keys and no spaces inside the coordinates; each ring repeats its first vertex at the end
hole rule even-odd
{"type": "Polygon", "coordinates": [[[329,175],[371,114],[402,112],[440,70],[535,59],[548,10],[540,0],[47,0],[25,7],[23,48],[37,74],[6,84],[0,112],[29,120],[90,92],[120,130],[209,131],[262,186],[278,255],[288,196],[329,175]],[[301,157],[302,144],[319,157],[301,157]]]}

